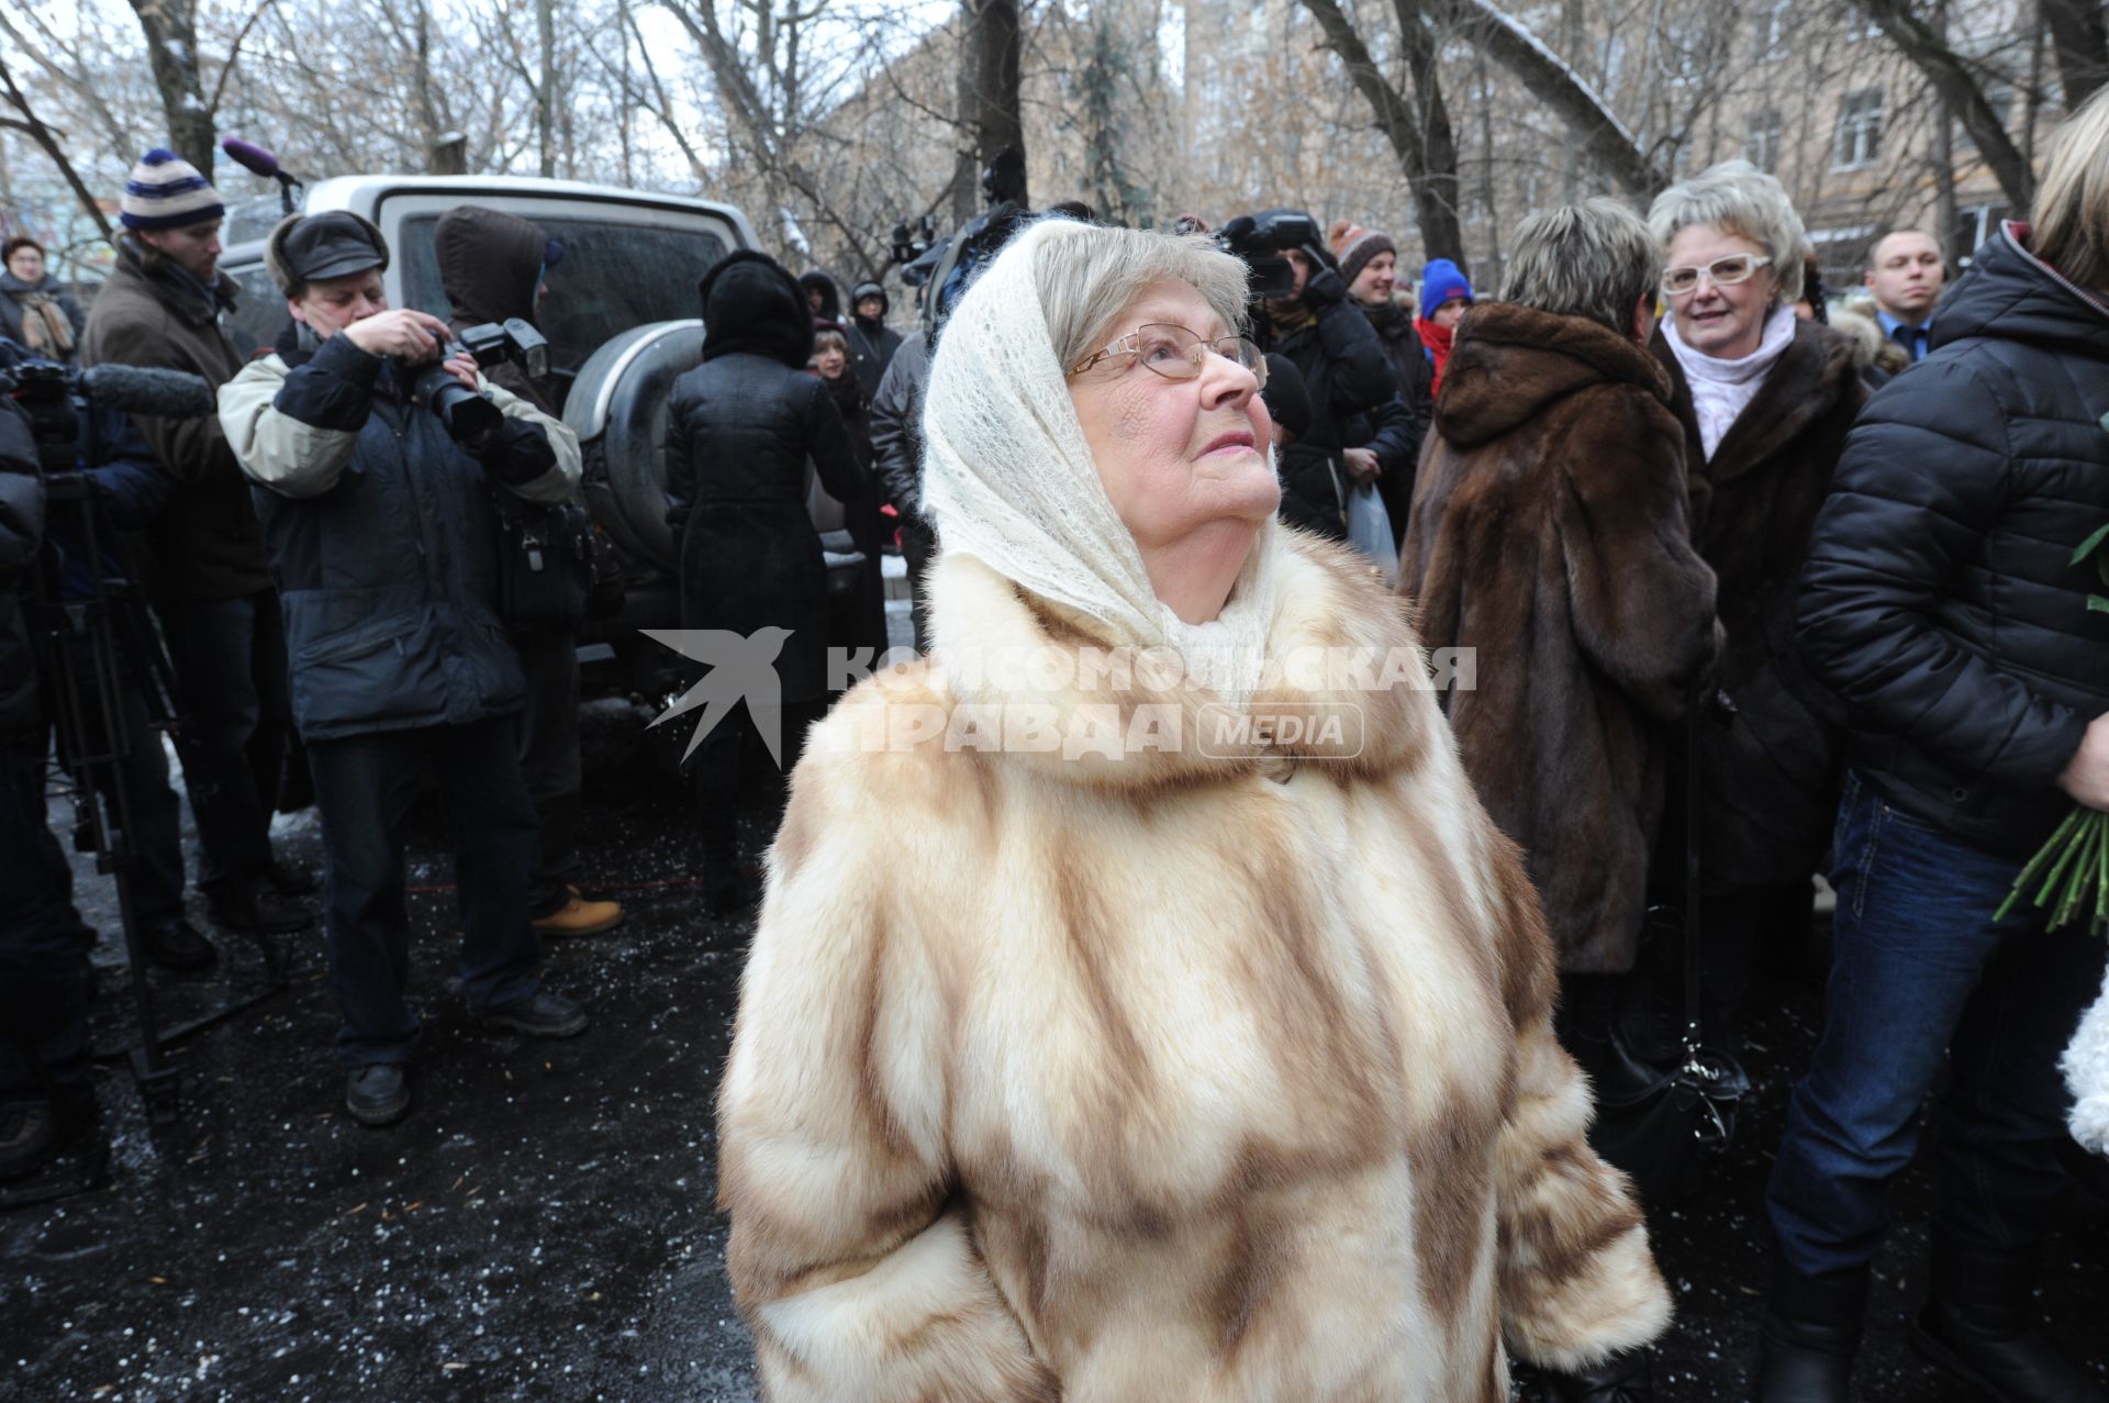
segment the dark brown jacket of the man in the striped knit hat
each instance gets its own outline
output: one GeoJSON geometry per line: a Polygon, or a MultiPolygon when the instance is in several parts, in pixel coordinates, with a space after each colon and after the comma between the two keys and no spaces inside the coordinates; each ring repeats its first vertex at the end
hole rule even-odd
{"type": "MultiPolygon", "coordinates": [[[[221,386],[243,357],[219,319],[234,310],[234,278],[213,287],[141,245],[118,238],[118,257],[95,293],[80,335],[80,365],[150,365],[205,376],[221,386]]],[[[133,416],[154,456],[175,477],[175,492],[146,534],[148,578],[160,595],[234,599],[270,589],[264,527],[257,523],[228,435],[213,416],[165,420],[133,416]]]]}

